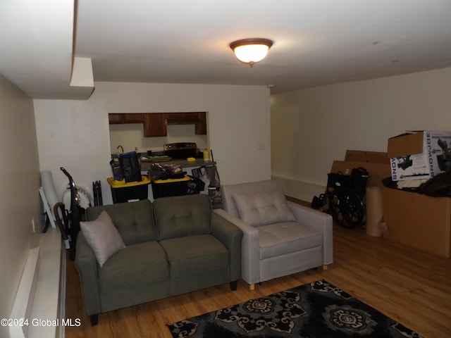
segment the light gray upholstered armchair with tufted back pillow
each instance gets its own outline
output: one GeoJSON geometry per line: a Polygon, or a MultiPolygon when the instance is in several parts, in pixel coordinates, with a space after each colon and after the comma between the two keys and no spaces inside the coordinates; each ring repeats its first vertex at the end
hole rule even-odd
{"type": "Polygon", "coordinates": [[[254,284],[333,263],[332,218],[286,201],[276,180],[221,187],[221,214],[243,232],[242,279],[254,284]]]}

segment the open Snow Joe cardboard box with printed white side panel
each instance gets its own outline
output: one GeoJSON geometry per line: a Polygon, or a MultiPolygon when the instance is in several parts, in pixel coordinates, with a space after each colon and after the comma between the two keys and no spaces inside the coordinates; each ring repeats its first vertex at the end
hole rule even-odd
{"type": "Polygon", "coordinates": [[[451,170],[451,132],[406,132],[388,139],[393,181],[428,179],[451,170]]]}

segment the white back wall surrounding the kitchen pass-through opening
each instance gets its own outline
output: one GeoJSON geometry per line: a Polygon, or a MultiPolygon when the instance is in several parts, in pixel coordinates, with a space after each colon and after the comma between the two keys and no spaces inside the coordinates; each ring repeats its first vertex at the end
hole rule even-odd
{"type": "Polygon", "coordinates": [[[269,89],[257,86],[96,82],[87,101],[35,100],[39,163],[51,170],[56,190],[101,180],[112,203],[108,113],[209,112],[209,146],[222,184],[271,177],[269,89]]]}

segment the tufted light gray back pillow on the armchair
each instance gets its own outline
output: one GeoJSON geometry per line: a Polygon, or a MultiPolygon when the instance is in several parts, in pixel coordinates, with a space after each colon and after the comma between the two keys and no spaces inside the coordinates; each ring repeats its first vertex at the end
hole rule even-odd
{"type": "Polygon", "coordinates": [[[233,199],[240,219],[254,227],[296,220],[288,208],[281,190],[256,192],[254,194],[234,194],[233,199]]]}

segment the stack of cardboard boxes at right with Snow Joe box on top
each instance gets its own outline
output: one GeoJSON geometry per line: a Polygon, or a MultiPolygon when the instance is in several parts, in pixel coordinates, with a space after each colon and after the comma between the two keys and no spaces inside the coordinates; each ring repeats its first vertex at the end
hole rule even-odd
{"type": "MultiPolygon", "coordinates": [[[[428,179],[447,170],[450,142],[451,132],[407,132],[391,137],[388,156],[392,180],[428,179]]],[[[385,187],[383,215],[388,238],[450,257],[451,198],[385,187]]]]}

